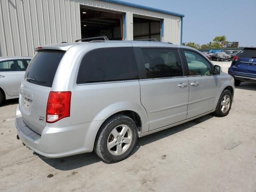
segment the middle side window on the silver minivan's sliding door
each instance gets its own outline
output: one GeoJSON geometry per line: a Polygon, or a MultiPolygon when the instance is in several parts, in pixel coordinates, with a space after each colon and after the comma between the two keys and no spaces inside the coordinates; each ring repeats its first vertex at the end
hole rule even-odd
{"type": "Polygon", "coordinates": [[[180,57],[176,49],[142,48],[147,78],[183,76],[180,57]]]}

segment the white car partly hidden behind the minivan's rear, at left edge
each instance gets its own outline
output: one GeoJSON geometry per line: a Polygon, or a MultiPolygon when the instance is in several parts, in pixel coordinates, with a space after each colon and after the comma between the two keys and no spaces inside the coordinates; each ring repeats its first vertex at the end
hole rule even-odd
{"type": "Polygon", "coordinates": [[[19,98],[20,82],[31,57],[0,57],[0,104],[4,100],[19,98]]]}

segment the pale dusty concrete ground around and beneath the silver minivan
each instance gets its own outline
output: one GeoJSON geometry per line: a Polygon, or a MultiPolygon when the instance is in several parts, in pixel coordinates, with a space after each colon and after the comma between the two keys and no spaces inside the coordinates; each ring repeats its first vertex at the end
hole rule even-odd
{"type": "MultiPolygon", "coordinates": [[[[227,72],[231,62],[214,63],[227,72]]],[[[116,164],[94,152],[35,154],[16,139],[18,100],[9,100],[0,107],[0,191],[255,192],[255,98],[256,84],[242,82],[228,116],[209,114],[139,138],[133,154],[116,164]]]]}

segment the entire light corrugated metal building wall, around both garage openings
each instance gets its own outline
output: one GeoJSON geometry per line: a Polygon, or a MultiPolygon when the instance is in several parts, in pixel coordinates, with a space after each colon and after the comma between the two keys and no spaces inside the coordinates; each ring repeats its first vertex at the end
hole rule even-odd
{"type": "Polygon", "coordinates": [[[179,16],[101,0],[0,0],[0,56],[33,56],[45,44],[81,38],[80,4],[126,12],[126,39],[133,39],[133,14],[164,19],[162,41],[180,44],[179,16]]]}

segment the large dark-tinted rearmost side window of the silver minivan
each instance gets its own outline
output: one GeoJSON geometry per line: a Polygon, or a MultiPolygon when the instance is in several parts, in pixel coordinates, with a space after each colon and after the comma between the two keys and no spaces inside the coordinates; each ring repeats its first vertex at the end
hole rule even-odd
{"type": "Polygon", "coordinates": [[[82,59],[77,83],[138,79],[132,47],[100,48],[82,59]]]}

